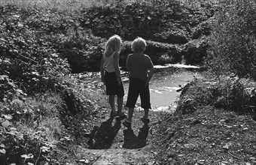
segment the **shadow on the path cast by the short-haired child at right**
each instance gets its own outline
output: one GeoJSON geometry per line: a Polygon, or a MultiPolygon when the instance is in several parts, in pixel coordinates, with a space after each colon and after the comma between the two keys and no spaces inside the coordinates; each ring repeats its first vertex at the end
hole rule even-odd
{"type": "Polygon", "coordinates": [[[139,128],[138,136],[134,134],[131,127],[123,130],[123,148],[135,149],[144,147],[147,144],[148,130],[148,124],[144,124],[143,127],[139,128]]]}

